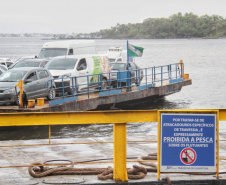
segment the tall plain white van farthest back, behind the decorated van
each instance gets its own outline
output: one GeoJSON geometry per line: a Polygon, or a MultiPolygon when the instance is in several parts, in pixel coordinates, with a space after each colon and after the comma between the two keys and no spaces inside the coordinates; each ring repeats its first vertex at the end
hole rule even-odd
{"type": "Polygon", "coordinates": [[[38,58],[96,53],[96,45],[93,40],[66,40],[45,43],[38,58]]]}

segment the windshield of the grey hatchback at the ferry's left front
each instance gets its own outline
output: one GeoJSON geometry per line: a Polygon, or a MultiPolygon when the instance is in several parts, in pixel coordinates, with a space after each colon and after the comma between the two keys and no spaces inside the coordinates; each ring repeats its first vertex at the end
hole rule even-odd
{"type": "Polygon", "coordinates": [[[27,71],[6,71],[0,75],[0,82],[19,82],[27,71]]]}

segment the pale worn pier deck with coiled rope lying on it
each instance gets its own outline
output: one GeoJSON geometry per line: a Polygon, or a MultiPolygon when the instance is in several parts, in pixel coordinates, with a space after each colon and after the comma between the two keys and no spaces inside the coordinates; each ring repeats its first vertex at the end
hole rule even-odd
{"type": "MultiPolygon", "coordinates": [[[[157,143],[150,142],[157,140],[157,123],[153,123],[151,132],[146,135],[128,134],[127,137],[127,168],[133,165],[150,168],[137,161],[137,157],[147,156],[150,153],[157,152],[157,143]],[[142,141],[142,142],[141,142],[142,141]]],[[[225,124],[220,126],[220,139],[225,140],[225,124]]],[[[28,165],[33,162],[49,160],[70,160],[74,163],[83,161],[93,161],[88,164],[75,164],[75,168],[107,168],[113,167],[113,138],[95,137],[95,138],[72,138],[72,139],[52,139],[49,145],[48,139],[42,140],[14,140],[1,141],[0,150],[0,184],[115,184],[114,180],[98,180],[97,175],[58,175],[46,176],[42,178],[33,178],[28,173],[28,165]],[[99,142],[99,143],[98,143],[99,142]],[[64,143],[64,144],[63,144],[64,143]],[[71,143],[71,144],[70,144],[71,143]],[[73,144],[72,144],[73,143],[73,144]],[[77,144],[75,144],[77,143],[77,144]],[[43,145],[39,145],[43,144],[43,145]],[[9,147],[9,145],[17,145],[9,147]],[[19,146],[27,145],[27,146],[19,146]],[[36,145],[36,146],[29,146],[36,145]],[[8,147],[2,147],[8,146],[8,147]],[[98,160],[107,159],[107,160],[98,160]],[[13,166],[13,167],[8,167],[13,166]],[[26,167],[20,167],[26,166],[26,167]]],[[[220,159],[225,158],[226,142],[220,141],[220,159]]],[[[154,162],[156,163],[156,162],[154,162]]],[[[149,184],[160,185],[167,184],[162,180],[169,177],[172,184],[195,184],[195,185],[224,185],[226,183],[226,162],[220,160],[220,179],[215,175],[195,175],[183,173],[161,174],[161,180],[158,181],[157,173],[148,172],[144,179],[128,180],[123,184],[149,184]]]]}

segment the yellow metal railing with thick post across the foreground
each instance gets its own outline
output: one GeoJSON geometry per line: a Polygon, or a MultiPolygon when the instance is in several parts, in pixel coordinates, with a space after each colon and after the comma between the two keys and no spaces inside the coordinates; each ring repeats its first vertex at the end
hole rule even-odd
{"type": "MultiPolygon", "coordinates": [[[[226,121],[226,109],[169,111],[177,113],[217,111],[219,113],[219,121],[226,121]]],[[[51,144],[51,125],[113,124],[114,179],[116,181],[127,181],[126,124],[133,122],[158,122],[159,113],[160,111],[158,110],[1,113],[0,126],[49,125],[49,144],[51,144]]],[[[217,137],[219,137],[219,133],[217,137]]],[[[217,145],[217,147],[219,150],[219,145],[217,145]]],[[[219,154],[217,157],[219,159],[219,154]]]]}

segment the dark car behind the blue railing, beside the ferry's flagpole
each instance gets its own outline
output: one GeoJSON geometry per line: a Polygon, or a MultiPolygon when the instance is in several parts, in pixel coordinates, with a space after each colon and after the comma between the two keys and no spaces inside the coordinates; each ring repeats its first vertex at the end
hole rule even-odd
{"type": "MultiPolygon", "coordinates": [[[[128,65],[126,62],[113,62],[111,65],[111,85],[118,86],[118,72],[123,72],[128,70],[128,65]]],[[[134,62],[129,62],[129,72],[131,74],[131,83],[140,85],[140,82],[143,80],[144,72],[137,64],[134,62]]],[[[126,83],[122,82],[121,85],[124,86],[126,83]]]]}

